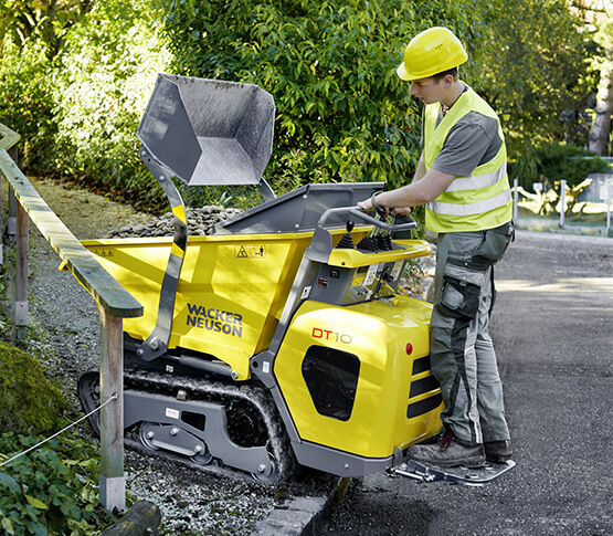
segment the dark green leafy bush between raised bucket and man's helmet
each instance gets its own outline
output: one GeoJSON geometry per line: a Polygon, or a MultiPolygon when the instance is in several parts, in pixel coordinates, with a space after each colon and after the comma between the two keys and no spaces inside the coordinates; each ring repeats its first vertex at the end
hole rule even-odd
{"type": "Polygon", "coordinates": [[[472,45],[487,6],[161,0],[159,13],[175,72],[273,94],[275,146],[265,176],[284,191],[307,182],[405,183],[421,151],[421,114],[395,75],[403,48],[434,24],[472,45]]]}

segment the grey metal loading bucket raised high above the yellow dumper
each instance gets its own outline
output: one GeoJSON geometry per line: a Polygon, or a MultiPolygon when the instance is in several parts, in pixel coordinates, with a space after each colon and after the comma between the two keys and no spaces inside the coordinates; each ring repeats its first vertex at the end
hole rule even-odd
{"type": "Polygon", "coordinates": [[[186,185],[257,185],[274,119],[273,96],[256,85],[159,74],[136,135],[186,185]]]}

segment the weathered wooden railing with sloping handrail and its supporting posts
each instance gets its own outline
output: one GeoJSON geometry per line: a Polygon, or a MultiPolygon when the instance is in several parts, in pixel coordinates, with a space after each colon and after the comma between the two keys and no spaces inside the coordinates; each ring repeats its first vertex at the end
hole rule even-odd
{"type": "MultiPolygon", "coordinates": [[[[47,207],[15,164],[20,136],[0,124],[0,171],[17,200],[15,326],[28,323],[28,219],[36,225],[73,275],[98,303],[101,316],[101,503],[124,511],[123,318],[142,315],[142,306],[97,262],[47,207]]],[[[0,262],[3,262],[0,241],[0,262]]]]}

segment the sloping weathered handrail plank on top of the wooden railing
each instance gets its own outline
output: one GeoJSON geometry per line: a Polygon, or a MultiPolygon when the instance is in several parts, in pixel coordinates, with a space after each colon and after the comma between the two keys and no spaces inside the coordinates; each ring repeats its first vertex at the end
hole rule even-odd
{"type": "Polygon", "coordinates": [[[11,185],[15,198],[32,222],[96,302],[110,316],[117,318],[141,316],[142,306],[76,240],[4,149],[0,149],[0,171],[11,185]]]}

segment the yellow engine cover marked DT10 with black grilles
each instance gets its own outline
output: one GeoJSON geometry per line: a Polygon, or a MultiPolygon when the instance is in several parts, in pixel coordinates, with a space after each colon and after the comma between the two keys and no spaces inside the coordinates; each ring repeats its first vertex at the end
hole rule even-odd
{"type": "Polygon", "coordinates": [[[436,434],[430,314],[430,304],[405,297],[348,307],[306,302],[274,365],[300,439],[381,459],[436,434]]]}

